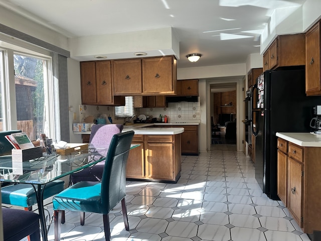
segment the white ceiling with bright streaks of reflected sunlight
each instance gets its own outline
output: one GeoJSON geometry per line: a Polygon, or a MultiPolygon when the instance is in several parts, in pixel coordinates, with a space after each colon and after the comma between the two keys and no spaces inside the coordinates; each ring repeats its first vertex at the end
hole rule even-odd
{"type": "Polygon", "coordinates": [[[0,6],[68,38],[172,27],[179,39],[178,68],[189,68],[245,63],[249,54],[260,52],[260,34],[272,12],[276,8],[299,7],[304,2],[0,0],[0,6]],[[186,58],[191,53],[202,57],[191,63],[186,58]]]}

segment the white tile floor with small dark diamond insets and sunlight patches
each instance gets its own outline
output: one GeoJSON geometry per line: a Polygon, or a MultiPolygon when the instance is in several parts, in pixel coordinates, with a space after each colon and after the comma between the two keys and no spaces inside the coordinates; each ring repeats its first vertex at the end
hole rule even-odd
{"type": "MultiPolygon", "coordinates": [[[[130,230],[120,205],[110,216],[112,240],[131,241],[307,241],[281,201],[265,196],[254,166],[235,145],[212,145],[210,153],[182,156],[177,184],[127,182],[130,230]]],[[[51,209],[51,204],[47,205],[51,209]]],[[[64,240],[105,240],[102,216],[66,213],[64,240]]],[[[54,239],[54,226],[49,240],[54,239]]]]}

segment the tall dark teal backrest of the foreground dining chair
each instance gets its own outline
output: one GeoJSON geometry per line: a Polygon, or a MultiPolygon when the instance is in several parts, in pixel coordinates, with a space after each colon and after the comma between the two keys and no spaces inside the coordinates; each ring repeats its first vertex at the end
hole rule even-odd
{"type": "Polygon", "coordinates": [[[101,209],[108,213],[126,196],[126,165],[133,131],[112,137],[101,180],[101,209]]]}

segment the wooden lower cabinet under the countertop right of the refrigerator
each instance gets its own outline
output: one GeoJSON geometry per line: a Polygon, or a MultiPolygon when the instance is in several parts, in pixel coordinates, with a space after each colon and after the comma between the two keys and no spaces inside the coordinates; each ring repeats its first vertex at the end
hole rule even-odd
{"type": "Polygon", "coordinates": [[[281,138],[277,148],[278,196],[305,233],[321,230],[321,148],[281,138]]]}

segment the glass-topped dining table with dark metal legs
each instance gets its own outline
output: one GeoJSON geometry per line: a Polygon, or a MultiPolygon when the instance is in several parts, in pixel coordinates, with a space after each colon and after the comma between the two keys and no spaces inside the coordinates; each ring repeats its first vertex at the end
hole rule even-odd
{"type": "Polygon", "coordinates": [[[27,183],[33,186],[37,197],[43,240],[47,241],[48,230],[43,203],[43,191],[46,184],[105,160],[107,151],[107,148],[89,144],[88,150],[68,155],[44,154],[43,157],[24,162],[13,162],[11,156],[2,156],[0,157],[0,181],[27,183]]]}

